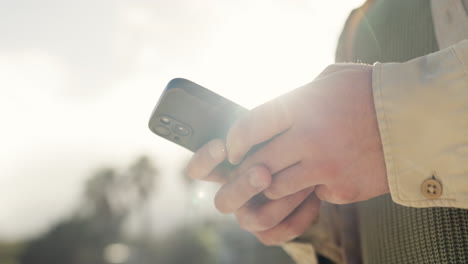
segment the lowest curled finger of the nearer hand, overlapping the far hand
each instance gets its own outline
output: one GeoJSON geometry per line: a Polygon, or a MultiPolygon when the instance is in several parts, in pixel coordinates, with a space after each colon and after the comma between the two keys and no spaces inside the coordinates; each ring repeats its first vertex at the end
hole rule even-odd
{"type": "Polygon", "coordinates": [[[322,179],[313,169],[306,169],[299,162],[274,174],[270,187],[263,193],[268,199],[277,200],[321,183],[322,179]]]}

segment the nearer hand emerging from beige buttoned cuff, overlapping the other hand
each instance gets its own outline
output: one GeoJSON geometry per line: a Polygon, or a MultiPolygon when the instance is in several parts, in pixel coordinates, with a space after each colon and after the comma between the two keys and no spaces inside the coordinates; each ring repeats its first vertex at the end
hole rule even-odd
{"type": "MultiPolygon", "coordinates": [[[[240,118],[226,144],[229,161],[242,161],[234,173],[241,178],[250,168],[265,166],[274,175],[264,191],[272,200],[314,187],[318,198],[335,204],[389,192],[371,76],[372,66],[331,66],[314,82],[240,118]]],[[[231,198],[218,195],[218,208],[229,208],[231,198]]]]}

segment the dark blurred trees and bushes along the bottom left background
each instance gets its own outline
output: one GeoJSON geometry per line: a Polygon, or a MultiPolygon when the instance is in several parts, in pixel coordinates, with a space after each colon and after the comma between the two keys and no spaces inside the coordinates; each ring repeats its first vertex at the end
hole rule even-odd
{"type": "MultiPolygon", "coordinates": [[[[157,169],[146,157],[124,171],[98,170],[86,182],[83,202],[72,217],[31,241],[0,244],[0,263],[293,263],[280,248],[265,247],[240,230],[234,220],[205,219],[164,236],[149,235],[149,231],[126,236],[126,220],[132,213],[145,210],[156,189],[157,176],[157,169]],[[128,254],[120,252],[120,260],[106,259],[104,252],[115,243],[128,249],[128,254]]],[[[191,186],[187,184],[187,188],[191,186]]]]}

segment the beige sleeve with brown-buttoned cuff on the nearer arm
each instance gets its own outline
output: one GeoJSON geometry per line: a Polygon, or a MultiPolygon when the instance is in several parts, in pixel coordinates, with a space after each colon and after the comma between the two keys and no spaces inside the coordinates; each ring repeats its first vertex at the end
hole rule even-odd
{"type": "Polygon", "coordinates": [[[393,201],[468,208],[468,40],[376,63],[372,82],[393,201]]]}

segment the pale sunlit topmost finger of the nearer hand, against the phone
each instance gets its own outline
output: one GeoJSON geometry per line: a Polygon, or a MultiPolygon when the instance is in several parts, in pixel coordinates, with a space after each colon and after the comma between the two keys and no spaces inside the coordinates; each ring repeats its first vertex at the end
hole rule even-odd
{"type": "Polygon", "coordinates": [[[277,98],[253,109],[237,120],[228,132],[226,148],[232,164],[239,164],[255,145],[273,138],[292,125],[284,98],[277,98]]]}

